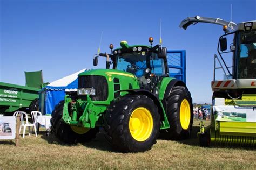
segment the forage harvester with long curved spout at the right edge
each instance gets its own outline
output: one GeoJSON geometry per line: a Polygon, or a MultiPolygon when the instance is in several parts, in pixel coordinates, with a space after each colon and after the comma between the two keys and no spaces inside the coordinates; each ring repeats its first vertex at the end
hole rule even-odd
{"type": "Polygon", "coordinates": [[[201,146],[221,145],[255,146],[256,144],[256,21],[235,24],[219,18],[188,17],[180,27],[191,24],[213,23],[223,25],[218,55],[214,55],[212,81],[211,125],[201,122],[201,146]],[[232,30],[232,31],[231,31],[232,30]],[[227,49],[227,40],[231,40],[227,49]],[[230,65],[225,62],[232,54],[230,65]],[[225,56],[225,60],[224,57],[225,56]],[[216,61],[218,61],[217,67],[216,61]],[[224,65],[223,65],[224,64],[224,65]],[[222,69],[224,79],[215,80],[215,72],[222,69]]]}

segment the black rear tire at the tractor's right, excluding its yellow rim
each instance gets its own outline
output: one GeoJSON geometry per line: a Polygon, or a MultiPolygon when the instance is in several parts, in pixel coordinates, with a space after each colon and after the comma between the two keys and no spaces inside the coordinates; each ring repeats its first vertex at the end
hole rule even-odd
{"type": "Polygon", "coordinates": [[[173,87],[170,96],[166,98],[167,118],[169,129],[161,131],[161,138],[183,140],[190,137],[193,125],[193,104],[191,94],[186,87],[173,87]],[[186,99],[190,104],[190,123],[187,129],[183,129],[180,123],[180,105],[186,99]]]}

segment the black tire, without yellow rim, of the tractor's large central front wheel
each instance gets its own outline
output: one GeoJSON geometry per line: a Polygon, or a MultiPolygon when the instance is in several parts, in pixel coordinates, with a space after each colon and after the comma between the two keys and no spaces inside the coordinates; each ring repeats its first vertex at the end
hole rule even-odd
{"type": "Polygon", "coordinates": [[[126,95],[111,103],[104,115],[104,129],[107,141],[120,152],[144,152],[150,150],[159,136],[160,115],[153,100],[145,95],[126,95]],[[129,121],[133,111],[146,108],[153,120],[150,136],[144,141],[132,137],[129,121]]]}

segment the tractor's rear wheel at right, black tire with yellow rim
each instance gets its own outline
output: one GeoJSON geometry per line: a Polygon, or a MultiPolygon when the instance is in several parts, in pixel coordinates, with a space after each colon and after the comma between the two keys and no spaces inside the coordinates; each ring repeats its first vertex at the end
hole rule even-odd
{"type": "Polygon", "coordinates": [[[193,104],[190,92],[186,87],[173,87],[166,99],[169,129],[161,131],[165,139],[186,139],[190,136],[193,125],[193,104]]]}

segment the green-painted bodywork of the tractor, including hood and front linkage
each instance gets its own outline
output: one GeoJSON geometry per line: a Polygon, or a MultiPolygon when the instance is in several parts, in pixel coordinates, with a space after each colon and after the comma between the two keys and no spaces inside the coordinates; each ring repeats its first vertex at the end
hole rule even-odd
{"type": "MultiPolygon", "coordinates": [[[[133,48],[133,47],[144,47],[150,48],[150,46],[135,45],[129,46],[127,42],[121,43],[122,48],[133,48]]],[[[88,76],[88,75],[97,75],[103,76],[107,81],[108,86],[108,96],[105,101],[95,101],[92,100],[89,95],[86,95],[86,98],[77,98],[76,102],[72,102],[69,95],[65,96],[65,104],[63,108],[63,121],[69,125],[83,126],[85,128],[95,128],[96,126],[103,126],[103,114],[106,111],[107,107],[111,104],[112,101],[116,100],[114,94],[117,93],[117,90],[114,90],[114,85],[119,85],[120,90],[129,90],[129,89],[140,89],[139,79],[132,73],[124,72],[116,69],[92,69],[84,73],[80,73],[78,76],[88,76]],[[114,79],[119,79],[119,82],[114,82],[114,79]],[[72,109],[69,103],[72,102],[72,109]],[[70,111],[70,112],[69,112],[70,111]]],[[[156,96],[159,98],[160,109],[159,112],[163,112],[163,121],[161,122],[160,129],[170,128],[169,121],[165,112],[165,106],[163,105],[164,93],[166,91],[167,85],[173,80],[170,77],[164,77],[160,79],[156,88],[156,96]]],[[[97,93],[97,90],[96,90],[97,93]]],[[[120,92],[120,96],[126,95],[127,92],[120,92]]]]}

